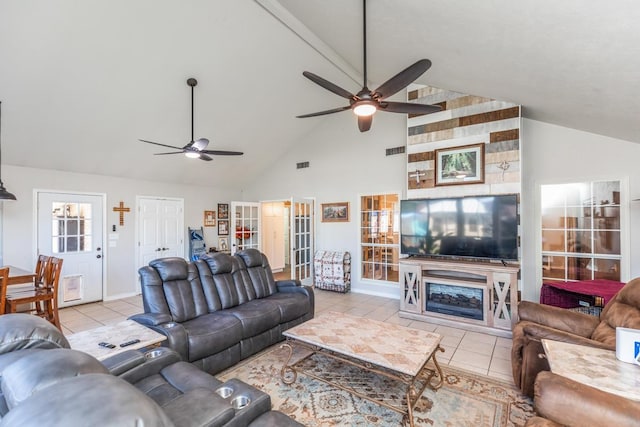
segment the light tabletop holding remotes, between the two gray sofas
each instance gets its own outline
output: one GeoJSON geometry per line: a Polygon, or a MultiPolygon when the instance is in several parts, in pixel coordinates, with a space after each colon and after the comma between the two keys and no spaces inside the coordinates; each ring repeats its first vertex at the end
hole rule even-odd
{"type": "Polygon", "coordinates": [[[67,335],[66,338],[72,349],[88,353],[98,360],[104,360],[127,350],[135,350],[157,344],[167,337],[138,322],[125,320],[113,325],[101,326],[67,335]],[[140,342],[127,347],[120,347],[120,344],[134,339],[138,339],[140,342]],[[98,345],[100,342],[114,344],[115,347],[101,347],[98,345]]]}

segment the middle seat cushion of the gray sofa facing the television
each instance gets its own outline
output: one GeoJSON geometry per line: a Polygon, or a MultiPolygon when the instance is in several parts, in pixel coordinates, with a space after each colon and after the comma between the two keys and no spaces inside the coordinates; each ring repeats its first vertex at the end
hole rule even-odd
{"type": "MultiPolygon", "coordinates": [[[[251,338],[280,324],[280,309],[266,299],[252,300],[221,313],[232,315],[242,323],[242,339],[251,338]]],[[[236,336],[238,342],[238,336],[236,336]]]]}

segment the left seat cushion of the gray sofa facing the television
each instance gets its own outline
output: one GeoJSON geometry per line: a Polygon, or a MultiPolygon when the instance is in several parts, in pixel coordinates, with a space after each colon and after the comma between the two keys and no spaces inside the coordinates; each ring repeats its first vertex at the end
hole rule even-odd
{"type": "Polygon", "coordinates": [[[222,312],[205,314],[182,323],[187,331],[189,362],[216,354],[237,344],[243,326],[239,319],[222,312]]]}

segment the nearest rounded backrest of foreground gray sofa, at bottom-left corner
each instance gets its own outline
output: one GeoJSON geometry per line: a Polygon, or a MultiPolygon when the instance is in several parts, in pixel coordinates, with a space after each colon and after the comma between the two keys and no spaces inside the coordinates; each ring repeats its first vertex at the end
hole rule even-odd
{"type": "Polygon", "coordinates": [[[61,380],[51,392],[43,391],[25,400],[0,421],[0,427],[78,425],[174,426],[153,400],[126,381],[108,374],[61,380]]]}

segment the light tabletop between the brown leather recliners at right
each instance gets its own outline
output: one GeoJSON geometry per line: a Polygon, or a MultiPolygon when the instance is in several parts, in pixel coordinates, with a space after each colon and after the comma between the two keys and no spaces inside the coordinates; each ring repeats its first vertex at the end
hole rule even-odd
{"type": "Polygon", "coordinates": [[[616,352],[543,339],[551,372],[582,384],[640,400],[640,366],[616,359],[616,352]]]}

